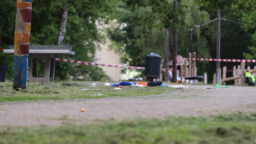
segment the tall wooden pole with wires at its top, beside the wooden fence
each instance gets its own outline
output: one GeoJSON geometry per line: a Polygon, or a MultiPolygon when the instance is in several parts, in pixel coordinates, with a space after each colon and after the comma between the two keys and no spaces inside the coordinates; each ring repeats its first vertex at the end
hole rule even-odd
{"type": "MultiPolygon", "coordinates": [[[[220,9],[217,10],[216,59],[220,59],[220,9]]],[[[216,61],[216,84],[220,84],[220,61],[216,61]]]]}

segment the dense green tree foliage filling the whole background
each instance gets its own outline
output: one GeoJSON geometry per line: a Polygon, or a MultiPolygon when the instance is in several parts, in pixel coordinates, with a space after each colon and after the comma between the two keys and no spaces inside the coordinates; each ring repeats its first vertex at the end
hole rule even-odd
{"type": "MultiPolygon", "coordinates": [[[[57,41],[60,15],[63,3],[68,5],[68,21],[63,44],[73,45],[76,56],[58,56],[83,61],[93,61],[99,43],[105,42],[104,33],[95,23],[110,24],[107,29],[112,40],[112,49],[120,52],[122,63],[144,66],[144,56],[150,52],[164,53],[164,28],[169,29],[169,49],[172,57],[172,28],[178,28],[178,55],[188,57],[190,52],[190,32],[193,28],[192,51],[196,51],[196,28],[216,18],[215,10],[221,9],[221,17],[228,20],[255,23],[254,0],[178,0],[178,9],[173,10],[172,0],[37,0],[33,1],[30,44],[54,45],[57,41]],[[201,10],[201,11],[199,11],[201,10]],[[211,15],[210,15],[211,14],[211,15]],[[177,18],[177,23],[172,21],[177,18]],[[189,23],[192,23],[191,25],[189,23]]],[[[4,28],[0,35],[1,48],[8,49],[13,44],[16,1],[2,0],[6,5],[0,12],[0,25],[4,28]]],[[[197,29],[198,57],[216,57],[216,22],[197,29]]],[[[105,32],[105,31],[103,31],[105,32]]],[[[221,20],[221,58],[256,58],[255,28],[221,20]],[[247,48],[248,47],[248,48],[247,48]],[[243,54],[244,53],[244,54],[243,54]]],[[[6,79],[12,78],[13,57],[0,53],[0,63],[7,66],[6,79]]],[[[232,69],[238,63],[221,62],[222,66],[232,69]]],[[[101,68],[57,62],[56,77],[67,80],[73,76],[76,80],[108,79],[101,68]]],[[[198,61],[198,75],[208,73],[212,81],[215,62],[198,61]]],[[[232,74],[227,74],[232,76],[232,74]]]]}

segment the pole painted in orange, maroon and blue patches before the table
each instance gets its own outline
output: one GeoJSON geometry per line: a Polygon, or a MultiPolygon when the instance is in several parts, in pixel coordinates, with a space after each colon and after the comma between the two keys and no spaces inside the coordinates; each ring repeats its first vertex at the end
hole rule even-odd
{"type": "Polygon", "coordinates": [[[27,88],[31,0],[17,0],[14,34],[13,89],[27,88]]]}

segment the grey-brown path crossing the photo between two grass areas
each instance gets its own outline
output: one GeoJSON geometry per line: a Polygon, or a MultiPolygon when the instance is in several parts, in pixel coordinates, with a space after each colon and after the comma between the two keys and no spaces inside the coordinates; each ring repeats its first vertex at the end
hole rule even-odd
{"type": "Polygon", "coordinates": [[[101,123],[138,117],[201,116],[256,112],[256,87],[189,85],[166,97],[0,104],[0,125],[101,123]],[[84,108],[84,112],[79,110],[84,108]]]}

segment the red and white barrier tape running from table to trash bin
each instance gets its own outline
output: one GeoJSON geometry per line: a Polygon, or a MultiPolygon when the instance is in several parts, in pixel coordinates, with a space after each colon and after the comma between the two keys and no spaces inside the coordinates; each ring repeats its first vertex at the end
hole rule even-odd
{"type": "MultiPolygon", "coordinates": [[[[144,67],[109,65],[109,64],[101,64],[101,63],[95,63],[95,62],[86,62],[86,61],[78,61],[78,60],[67,60],[67,59],[61,59],[61,58],[54,58],[54,59],[58,60],[58,61],[80,63],[80,64],[88,64],[88,65],[95,65],[95,66],[107,66],[107,67],[116,67],[116,68],[131,68],[131,69],[145,69],[144,67]]],[[[161,68],[161,70],[165,70],[165,68],[161,68]]]]}

